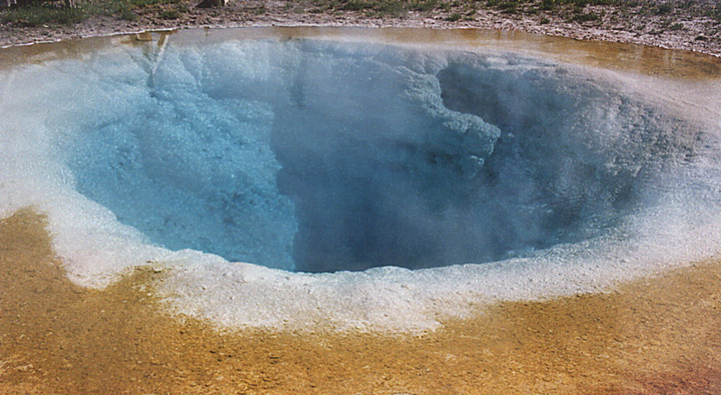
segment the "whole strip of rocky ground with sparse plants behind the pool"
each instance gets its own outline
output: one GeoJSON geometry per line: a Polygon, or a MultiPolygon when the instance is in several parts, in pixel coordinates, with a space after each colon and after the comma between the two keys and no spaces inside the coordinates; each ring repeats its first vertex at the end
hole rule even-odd
{"type": "Polygon", "coordinates": [[[0,11],[0,46],[187,27],[321,25],[521,30],[721,56],[721,0],[87,0],[0,11]]]}

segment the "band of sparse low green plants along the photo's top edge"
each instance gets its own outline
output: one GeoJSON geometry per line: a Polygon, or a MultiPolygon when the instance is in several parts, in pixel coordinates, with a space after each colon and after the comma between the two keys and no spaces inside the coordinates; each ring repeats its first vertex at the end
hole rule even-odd
{"type": "MultiPolygon", "coordinates": [[[[188,13],[222,14],[223,9],[190,9],[194,0],[77,0],[76,8],[63,6],[64,0],[18,0],[21,6],[0,9],[0,24],[17,27],[74,25],[89,18],[118,20],[181,19],[188,13]]],[[[270,12],[268,0],[249,0],[253,6],[241,6],[229,12],[261,15],[270,12]]],[[[285,0],[286,12],[337,14],[353,12],[366,17],[404,17],[409,12],[456,22],[474,19],[479,10],[500,14],[534,16],[541,25],[554,19],[594,25],[617,25],[619,19],[636,15],[658,17],[664,22],[650,28],[684,30],[678,17],[708,17],[716,21],[711,30],[721,27],[721,0],[285,0]]]]}

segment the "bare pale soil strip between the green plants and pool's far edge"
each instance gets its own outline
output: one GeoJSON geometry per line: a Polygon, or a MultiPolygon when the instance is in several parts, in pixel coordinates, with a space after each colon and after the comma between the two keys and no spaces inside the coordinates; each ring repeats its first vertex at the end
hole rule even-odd
{"type": "MultiPolygon", "coordinates": [[[[709,0],[717,1],[717,0],[709,0]]],[[[718,5],[721,6],[721,3],[718,5]]],[[[449,15],[464,12],[406,12],[397,17],[386,14],[368,17],[361,12],[324,11],[314,9],[311,2],[271,0],[236,0],[221,9],[190,9],[180,19],[159,17],[161,10],[138,15],[133,22],[96,17],[74,27],[21,28],[0,25],[0,46],[32,43],[47,40],[107,35],[117,32],[176,29],[187,27],[239,27],[239,26],[355,26],[355,27],[430,27],[479,28],[523,31],[544,35],[559,35],[582,40],[604,40],[622,43],[655,45],[663,48],[694,50],[721,56],[721,25],[707,17],[688,17],[683,11],[659,16],[637,9],[622,10],[614,7],[593,9],[603,12],[602,22],[567,22],[553,15],[523,16],[503,14],[481,9],[468,19],[456,22],[446,20],[449,15]],[[683,28],[671,30],[668,24],[681,23],[683,28]]]]}

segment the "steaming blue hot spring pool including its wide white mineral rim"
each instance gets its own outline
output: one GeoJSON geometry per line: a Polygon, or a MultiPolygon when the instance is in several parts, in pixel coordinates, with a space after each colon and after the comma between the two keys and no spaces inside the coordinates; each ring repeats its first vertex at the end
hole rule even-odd
{"type": "Polygon", "coordinates": [[[438,35],[189,31],[7,62],[0,215],[46,213],[76,283],[152,265],[170,308],[230,327],[423,331],[719,252],[717,68],[438,35]]]}

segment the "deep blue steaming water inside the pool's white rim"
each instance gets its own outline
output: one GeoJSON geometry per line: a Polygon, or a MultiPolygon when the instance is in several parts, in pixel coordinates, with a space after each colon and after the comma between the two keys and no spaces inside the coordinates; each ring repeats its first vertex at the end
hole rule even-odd
{"type": "Polygon", "coordinates": [[[76,69],[101,75],[123,114],[62,142],[77,190],[155,244],[232,261],[521,256],[615,226],[693,154],[681,121],[513,54],[248,40],[120,57],[121,71],[76,69]]]}

